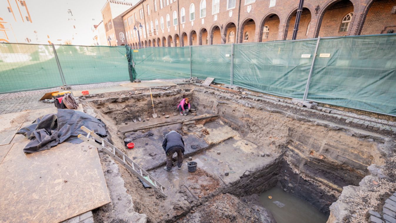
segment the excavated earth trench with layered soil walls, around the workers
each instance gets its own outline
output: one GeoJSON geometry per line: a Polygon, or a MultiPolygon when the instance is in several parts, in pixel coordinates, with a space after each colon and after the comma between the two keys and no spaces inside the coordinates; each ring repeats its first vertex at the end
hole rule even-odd
{"type": "Polygon", "coordinates": [[[120,168],[135,211],[148,222],[271,222],[257,194],[274,187],[329,215],[344,186],[358,185],[367,166],[381,164],[374,158],[381,142],[328,121],[194,85],[152,91],[155,119],[147,89],[85,99],[109,126],[114,145],[125,148],[122,139],[132,137],[136,148],[125,149],[128,156],[168,186],[168,198],[161,198],[120,168]],[[184,97],[196,111],[179,116],[176,106],[184,97]],[[169,130],[183,135],[185,159],[198,160],[197,172],[163,170],[162,139],[169,130]]]}

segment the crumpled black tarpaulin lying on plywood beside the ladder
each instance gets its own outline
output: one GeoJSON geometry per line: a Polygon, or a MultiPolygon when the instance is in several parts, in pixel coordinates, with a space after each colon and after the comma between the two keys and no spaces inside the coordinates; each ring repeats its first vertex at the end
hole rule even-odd
{"type": "Polygon", "coordinates": [[[78,134],[86,134],[81,126],[87,127],[101,137],[107,137],[105,124],[84,112],[58,109],[57,114],[47,114],[37,118],[32,124],[21,128],[17,134],[25,135],[30,142],[24,152],[32,153],[50,149],[59,143],[81,143],[78,134]]]}

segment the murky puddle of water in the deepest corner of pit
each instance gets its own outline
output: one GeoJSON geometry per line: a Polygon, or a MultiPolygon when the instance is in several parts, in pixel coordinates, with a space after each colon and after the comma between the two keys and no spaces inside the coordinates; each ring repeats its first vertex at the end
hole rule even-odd
{"type": "Polygon", "coordinates": [[[325,223],[328,218],[310,203],[279,187],[260,194],[260,204],[271,211],[277,223],[325,223]]]}

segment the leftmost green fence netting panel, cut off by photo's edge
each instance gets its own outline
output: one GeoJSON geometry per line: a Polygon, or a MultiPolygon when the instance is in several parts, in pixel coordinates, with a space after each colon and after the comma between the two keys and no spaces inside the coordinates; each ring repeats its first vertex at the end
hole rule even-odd
{"type": "Polygon", "coordinates": [[[0,93],[60,85],[52,46],[0,44],[0,93]]]}

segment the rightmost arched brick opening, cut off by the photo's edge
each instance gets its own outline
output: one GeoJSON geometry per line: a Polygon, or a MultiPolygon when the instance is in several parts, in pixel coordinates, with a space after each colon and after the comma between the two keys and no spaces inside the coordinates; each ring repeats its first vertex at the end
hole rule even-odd
{"type": "Polygon", "coordinates": [[[396,13],[389,13],[396,6],[395,0],[373,0],[367,11],[362,35],[396,33],[396,13]]]}

